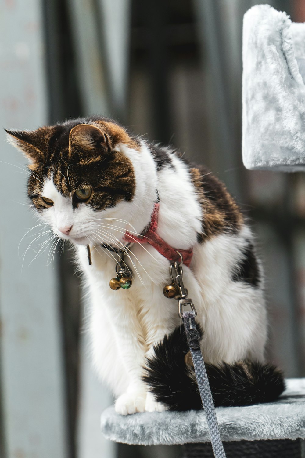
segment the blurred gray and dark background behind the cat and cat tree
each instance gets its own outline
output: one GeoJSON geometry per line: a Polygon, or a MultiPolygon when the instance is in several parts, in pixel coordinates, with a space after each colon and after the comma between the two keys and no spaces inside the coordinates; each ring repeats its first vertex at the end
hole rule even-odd
{"type": "MultiPolygon", "coordinates": [[[[241,162],[242,18],[257,3],[1,0],[0,117],[6,128],[35,129],[101,113],[208,165],[257,234],[268,359],[300,377],[305,175],[241,162]]],[[[302,0],[268,3],[305,21],[302,0]]],[[[38,238],[26,161],[0,135],[0,457],[179,457],[179,447],[103,439],[99,418],[112,398],[91,369],[80,278],[69,250],[38,238]]]]}

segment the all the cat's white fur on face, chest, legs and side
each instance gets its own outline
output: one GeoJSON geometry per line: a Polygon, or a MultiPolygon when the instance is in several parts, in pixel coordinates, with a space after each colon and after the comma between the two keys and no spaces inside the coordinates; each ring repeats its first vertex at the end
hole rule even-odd
{"type": "Polygon", "coordinates": [[[170,282],[169,262],[149,244],[131,248],[128,264],[134,272],[132,287],[112,291],[109,280],[115,276],[115,261],[99,243],[120,246],[126,230],[140,233],[150,221],[157,190],[158,234],[177,249],[194,250],[190,268],[183,267],[184,284],[204,329],[205,360],[230,363],[250,357],[262,361],[266,311],[261,289],[231,280],[245,240],[252,239],[250,230],[244,226],[240,234],[221,234],[198,244],[202,209],[186,165],[173,158],[175,167],[157,174],[144,143],[140,152],[125,145],[118,148],[134,166],[136,189],[132,200],[99,212],[86,203],[73,209],[70,199],[56,190],[51,179],[45,182],[43,196],[52,199],[54,206],[43,212],[43,218],[57,235],[76,245],[78,264],[90,294],[88,327],[93,362],[117,397],[116,410],[131,414],[163,409],[146,392],[141,381],[142,366],[153,344],[180,324],[177,301],[166,299],[162,293],[170,282]],[[69,236],[59,232],[62,226],[72,226],[69,236]],[[86,244],[91,246],[91,266],[86,244]]]}

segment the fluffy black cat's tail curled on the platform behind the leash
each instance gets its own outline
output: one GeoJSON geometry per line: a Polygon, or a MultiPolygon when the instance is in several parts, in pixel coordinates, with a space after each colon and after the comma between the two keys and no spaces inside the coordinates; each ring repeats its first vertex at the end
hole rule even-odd
{"type": "MultiPolygon", "coordinates": [[[[181,326],[165,336],[146,361],[143,380],[169,410],[202,409],[195,372],[186,361],[188,351],[181,326]]],[[[285,388],[281,371],[271,364],[245,360],[205,366],[216,407],[271,402],[285,388]]]]}

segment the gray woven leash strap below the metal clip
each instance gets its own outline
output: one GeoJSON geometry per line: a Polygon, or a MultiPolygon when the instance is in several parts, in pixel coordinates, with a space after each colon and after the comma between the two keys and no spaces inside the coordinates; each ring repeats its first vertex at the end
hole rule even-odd
{"type": "Polygon", "coordinates": [[[185,333],[187,336],[187,343],[193,359],[193,365],[197,384],[199,388],[200,397],[203,404],[203,409],[206,415],[211,444],[215,458],[226,458],[223,443],[221,442],[219,427],[213,403],[212,393],[209,386],[209,379],[203,356],[200,350],[200,336],[196,328],[195,311],[184,311],[182,320],[184,324],[185,333]]]}

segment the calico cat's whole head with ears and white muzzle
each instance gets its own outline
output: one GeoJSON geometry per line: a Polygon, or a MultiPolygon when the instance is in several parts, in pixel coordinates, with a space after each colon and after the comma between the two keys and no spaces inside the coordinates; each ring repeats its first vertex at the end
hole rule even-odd
{"type": "Polygon", "coordinates": [[[56,235],[81,245],[122,240],[136,187],[126,152],[139,154],[137,138],[100,119],[7,133],[30,161],[28,196],[56,235]]]}

